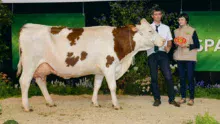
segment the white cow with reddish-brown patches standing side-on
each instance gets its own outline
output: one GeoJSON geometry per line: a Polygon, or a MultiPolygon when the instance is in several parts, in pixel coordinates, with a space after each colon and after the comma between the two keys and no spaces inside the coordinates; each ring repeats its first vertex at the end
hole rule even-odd
{"type": "Polygon", "coordinates": [[[30,82],[35,78],[50,107],[55,106],[46,87],[46,77],[55,74],[64,79],[95,75],[92,103],[98,104],[98,91],[105,77],[112,104],[120,109],[116,97],[116,80],[129,68],[132,57],[165,42],[146,19],[137,25],[122,27],[94,26],[69,28],[25,24],[19,35],[17,76],[24,111],[32,111],[28,102],[30,82]]]}

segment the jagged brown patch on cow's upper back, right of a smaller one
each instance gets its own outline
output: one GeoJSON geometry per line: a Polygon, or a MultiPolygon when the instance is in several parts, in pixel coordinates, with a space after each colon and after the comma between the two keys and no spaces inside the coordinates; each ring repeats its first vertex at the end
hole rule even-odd
{"type": "Polygon", "coordinates": [[[83,28],[69,28],[72,30],[71,33],[67,36],[70,41],[70,45],[76,45],[76,40],[79,40],[80,36],[82,35],[84,29],[83,28]]]}

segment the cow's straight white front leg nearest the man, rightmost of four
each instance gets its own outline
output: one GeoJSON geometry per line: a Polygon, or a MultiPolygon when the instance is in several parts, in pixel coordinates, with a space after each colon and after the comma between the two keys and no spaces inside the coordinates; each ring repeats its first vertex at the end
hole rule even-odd
{"type": "Polygon", "coordinates": [[[121,109],[121,107],[118,103],[117,96],[116,96],[116,87],[117,86],[116,86],[116,80],[115,80],[115,72],[109,73],[105,77],[106,77],[106,80],[107,80],[107,83],[108,83],[109,90],[111,92],[113,107],[116,110],[121,109]]]}

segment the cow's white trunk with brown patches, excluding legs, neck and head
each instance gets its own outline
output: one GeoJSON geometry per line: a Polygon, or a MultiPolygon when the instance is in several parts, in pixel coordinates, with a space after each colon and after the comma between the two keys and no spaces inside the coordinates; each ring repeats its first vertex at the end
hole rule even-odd
{"type": "Polygon", "coordinates": [[[101,73],[107,55],[117,58],[112,30],[108,26],[67,28],[26,24],[20,44],[26,57],[32,57],[37,66],[46,62],[61,74],[78,77],[101,73]]]}

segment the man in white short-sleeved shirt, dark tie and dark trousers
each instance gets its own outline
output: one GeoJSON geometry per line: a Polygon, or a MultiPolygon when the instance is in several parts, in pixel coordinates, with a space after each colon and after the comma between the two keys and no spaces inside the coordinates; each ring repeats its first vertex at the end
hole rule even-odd
{"type": "Polygon", "coordinates": [[[168,97],[169,97],[169,104],[174,105],[176,107],[180,107],[175,99],[174,94],[174,85],[170,70],[168,52],[172,47],[172,35],[170,32],[170,28],[167,25],[161,23],[162,19],[162,10],[156,8],[152,11],[152,18],[153,23],[151,26],[161,35],[163,38],[166,39],[166,43],[164,46],[158,48],[155,46],[152,49],[147,50],[148,54],[148,65],[150,67],[150,74],[151,74],[151,88],[152,93],[154,96],[154,103],[153,106],[159,106],[161,104],[160,92],[158,87],[158,67],[160,67],[161,72],[163,73],[167,86],[168,86],[168,97]]]}

